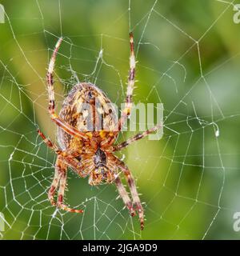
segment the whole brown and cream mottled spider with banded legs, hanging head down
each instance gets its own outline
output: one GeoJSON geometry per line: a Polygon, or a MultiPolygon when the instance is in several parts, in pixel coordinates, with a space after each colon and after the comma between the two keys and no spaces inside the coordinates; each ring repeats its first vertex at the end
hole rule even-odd
{"type": "MultiPolygon", "coordinates": [[[[55,163],[54,179],[48,191],[48,198],[53,206],[59,209],[66,210],[72,213],[82,213],[83,210],[75,210],[66,206],[63,203],[64,192],[66,188],[66,172],[70,167],[78,176],[82,178],[89,177],[89,184],[96,186],[102,182],[114,183],[117,186],[118,193],[121,196],[125,206],[130,211],[130,215],[134,216],[138,212],[141,230],[144,228],[144,211],[138,191],[134,182],[133,175],[129,168],[122,160],[120,160],[114,152],[122,150],[130,143],[138,139],[146,137],[150,133],[160,128],[160,125],[154,126],[150,130],[146,130],[141,134],[137,134],[132,138],[116,144],[119,131],[129,118],[132,108],[132,95],[134,90],[135,77],[135,56],[134,56],[134,38],[130,33],[130,71],[127,83],[126,102],[122,110],[121,117],[114,108],[110,108],[110,100],[106,94],[97,86],[90,82],[80,82],[76,84],[70,93],[66,96],[62,109],[59,115],[55,112],[54,100],[54,64],[58,49],[63,38],[59,38],[54,47],[53,54],[50,58],[48,71],[46,74],[48,96],[49,96],[49,114],[51,120],[58,126],[57,138],[60,147],[56,146],[50,139],[38,130],[38,134],[42,137],[50,149],[57,154],[55,163]],[[100,107],[95,108],[95,102],[101,102],[100,107]],[[87,114],[82,110],[83,103],[89,103],[93,107],[93,111],[98,111],[102,114],[102,122],[105,123],[108,129],[106,130],[87,130],[86,119],[87,114]],[[123,186],[119,176],[122,171],[126,178],[126,182],[130,188],[131,198],[123,186]],[[58,190],[57,200],[54,200],[54,194],[58,190]]],[[[99,120],[98,116],[94,115],[92,122],[96,125],[99,120]]]]}

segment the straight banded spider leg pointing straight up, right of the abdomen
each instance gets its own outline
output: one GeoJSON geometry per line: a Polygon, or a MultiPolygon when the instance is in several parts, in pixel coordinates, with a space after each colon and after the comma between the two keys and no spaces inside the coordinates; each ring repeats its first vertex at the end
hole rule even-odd
{"type": "Polygon", "coordinates": [[[121,117],[118,120],[118,127],[117,130],[121,130],[122,126],[126,122],[126,119],[130,115],[130,111],[133,105],[133,91],[134,91],[134,82],[135,82],[135,54],[134,54],[134,36],[133,33],[130,33],[130,70],[129,70],[129,77],[127,83],[127,90],[126,90],[126,102],[125,107],[122,110],[121,117]]]}

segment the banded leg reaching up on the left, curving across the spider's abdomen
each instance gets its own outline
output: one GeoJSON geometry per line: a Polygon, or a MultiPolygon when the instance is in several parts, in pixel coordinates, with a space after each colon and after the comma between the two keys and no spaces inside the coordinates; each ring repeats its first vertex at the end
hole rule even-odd
{"type": "Polygon", "coordinates": [[[47,85],[48,85],[48,95],[49,95],[49,113],[50,113],[50,117],[52,119],[53,122],[55,122],[58,126],[60,126],[62,128],[62,130],[64,130],[67,134],[70,134],[76,138],[83,138],[88,140],[89,137],[82,133],[81,131],[77,130],[76,128],[70,126],[67,122],[65,122],[64,120],[62,120],[62,118],[60,118],[58,116],[58,114],[55,114],[55,98],[54,98],[54,76],[53,76],[53,72],[54,72],[54,64],[55,64],[55,60],[56,60],[56,56],[58,54],[58,49],[61,45],[62,42],[62,38],[58,39],[58,42],[56,43],[56,46],[54,48],[54,52],[52,54],[52,57],[50,59],[50,63],[49,63],[49,67],[48,67],[48,71],[46,74],[46,80],[47,80],[47,85]]]}

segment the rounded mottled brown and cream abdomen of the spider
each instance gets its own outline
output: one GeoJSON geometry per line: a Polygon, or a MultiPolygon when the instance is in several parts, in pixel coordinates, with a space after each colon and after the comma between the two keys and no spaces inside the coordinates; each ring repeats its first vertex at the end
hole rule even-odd
{"type": "MultiPolygon", "coordinates": [[[[118,114],[110,99],[97,86],[86,82],[70,90],[59,116],[70,126],[91,133],[99,142],[106,139],[118,123],[118,114]]],[[[61,127],[58,127],[58,142],[65,149],[82,147],[80,139],[67,134],[61,127]]]]}

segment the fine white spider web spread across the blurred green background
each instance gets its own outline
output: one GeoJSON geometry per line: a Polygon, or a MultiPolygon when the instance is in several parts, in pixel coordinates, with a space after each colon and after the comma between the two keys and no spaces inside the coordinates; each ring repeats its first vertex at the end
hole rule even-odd
{"type": "MultiPolygon", "coordinates": [[[[11,1],[0,24],[0,212],[9,239],[238,238],[239,33],[234,1],[11,1]],[[107,15],[106,15],[107,14],[107,15]],[[97,84],[120,104],[126,92],[128,32],[137,64],[134,102],[164,104],[164,136],[119,156],[134,174],[146,214],[142,232],[114,186],[90,187],[68,172],[65,202],[50,206],[56,157],[46,68],[59,50],[58,110],[78,81],[97,84]]],[[[124,132],[119,142],[135,133],[124,132]]]]}

